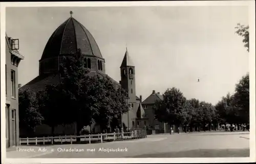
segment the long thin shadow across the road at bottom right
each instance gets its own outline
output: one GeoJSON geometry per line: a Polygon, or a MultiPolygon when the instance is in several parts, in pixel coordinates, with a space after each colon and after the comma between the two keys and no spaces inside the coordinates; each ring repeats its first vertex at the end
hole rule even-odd
{"type": "Polygon", "coordinates": [[[127,158],[221,158],[221,157],[249,157],[249,149],[199,149],[181,152],[157,154],[143,154],[127,158]]]}

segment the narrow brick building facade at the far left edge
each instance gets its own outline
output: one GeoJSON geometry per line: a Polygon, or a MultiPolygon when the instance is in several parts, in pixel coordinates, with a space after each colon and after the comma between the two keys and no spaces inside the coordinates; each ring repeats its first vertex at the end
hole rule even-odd
{"type": "Polygon", "coordinates": [[[24,56],[18,52],[18,39],[6,35],[6,147],[19,144],[19,117],[18,117],[18,65],[24,56]]]}

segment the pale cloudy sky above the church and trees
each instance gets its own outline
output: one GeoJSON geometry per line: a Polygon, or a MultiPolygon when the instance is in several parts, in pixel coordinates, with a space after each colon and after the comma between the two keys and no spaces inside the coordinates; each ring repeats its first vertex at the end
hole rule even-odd
{"type": "Polygon", "coordinates": [[[95,38],[106,74],[117,82],[127,45],[136,95],[143,100],[152,90],[176,87],[187,99],[216,104],[249,72],[249,53],[234,29],[249,24],[246,6],[6,8],[7,35],[19,39],[25,56],[18,83],[38,76],[45,45],[71,10],[95,38]]]}

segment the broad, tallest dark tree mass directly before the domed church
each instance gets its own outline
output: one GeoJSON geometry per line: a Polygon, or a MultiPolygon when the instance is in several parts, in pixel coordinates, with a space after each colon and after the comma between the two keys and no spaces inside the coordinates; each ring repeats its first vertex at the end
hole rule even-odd
{"type": "Polygon", "coordinates": [[[41,94],[41,111],[47,124],[54,127],[75,122],[77,135],[84,126],[95,122],[102,131],[117,114],[128,110],[123,90],[118,95],[110,78],[91,74],[85,57],[80,51],[73,57],[64,57],[59,68],[59,83],[48,85],[41,94]]]}

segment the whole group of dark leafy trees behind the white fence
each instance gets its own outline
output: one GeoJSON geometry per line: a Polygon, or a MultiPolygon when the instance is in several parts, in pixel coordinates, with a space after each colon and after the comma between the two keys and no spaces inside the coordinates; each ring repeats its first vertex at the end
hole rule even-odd
{"type": "Polygon", "coordinates": [[[59,68],[60,81],[34,92],[19,90],[20,127],[33,133],[35,127],[47,124],[77,124],[77,134],[83,126],[97,123],[101,131],[120,126],[120,114],[128,111],[127,93],[110,78],[91,76],[84,56],[78,52],[63,59],[59,68]]]}

